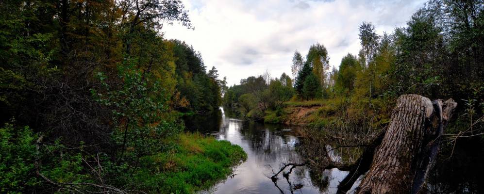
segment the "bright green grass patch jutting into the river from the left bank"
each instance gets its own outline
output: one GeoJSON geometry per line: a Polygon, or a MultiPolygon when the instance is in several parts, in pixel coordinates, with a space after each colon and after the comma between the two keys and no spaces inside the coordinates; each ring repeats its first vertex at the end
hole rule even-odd
{"type": "Polygon", "coordinates": [[[227,178],[232,167],[247,160],[240,146],[199,133],[183,133],[169,152],[140,160],[136,187],[161,194],[191,194],[227,178]]]}

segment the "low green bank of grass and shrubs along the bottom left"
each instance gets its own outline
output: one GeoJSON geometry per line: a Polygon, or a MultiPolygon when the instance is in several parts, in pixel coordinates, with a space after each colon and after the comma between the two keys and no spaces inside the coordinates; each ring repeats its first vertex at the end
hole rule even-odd
{"type": "MultiPolygon", "coordinates": [[[[157,143],[164,147],[162,151],[139,157],[133,166],[110,160],[112,156],[106,153],[96,156],[71,153],[73,149],[88,147],[66,149],[65,145],[48,143],[40,143],[45,146],[40,147],[36,142],[42,138],[28,127],[18,129],[6,124],[0,128],[0,137],[0,151],[5,156],[0,160],[1,193],[24,193],[35,187],[52,185],[57,193],[72,193],[69,192],[71,187],[60,186],[74,182],[72,188],[77,190],[101,188],[109,191],[124,185],[129,188],[126,190],[136,191],[134,193],[192,194],[227,178],[235,165],[247,160],[247,153],[240,146],[200,133],[181,133],[164,139],[157,143]],[[51,157],[45,151],[62,151],[63,154],[51,157]],[[49,160],[38,162],[42,158],[49,160]],[[95,165],[83,168],[82,164],[90,160],[95,160],[95,165]],[[35,171],[42,177],[32,173],[35,171]],[[93,183],[98,178],[103,185],[93,183]]],[[[133,147],[127,150],[132,152],[133,147]]]]}

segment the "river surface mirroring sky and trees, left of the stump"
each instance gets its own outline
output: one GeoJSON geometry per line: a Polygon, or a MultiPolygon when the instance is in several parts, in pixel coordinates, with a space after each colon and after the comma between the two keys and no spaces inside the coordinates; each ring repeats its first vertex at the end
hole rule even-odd
{"type": "MultiPolygon", "coordinates": [[[[319,194],[335,193],[337,184],[348,173],[337,169],[327,170],[322,176],[327,184],[312,182],[312,174],[305,166],[293,169],[288,178],[283,173],[275,182],[270,177],[283,166],[283,163],[301,163],[296,152],[299,143],[296,127],[284,125],[246,122],[240,119],[225,117],[223,110],[212,117],[203,119],[185,119],[187,129],[200,133],[215,135],[219,140],[228,140],[241,146],[248,154],[246,162],[234,169],[234,176],[220,182],[209,191],[201,193],[214,194],[319,194]],[[202,122],[201,125],[196,122],[202,122]],[[218,123],[217,125],[214,125],[218,123]],[[217,131],[217,132],[215,132],[217,131]]],[[[289,169],[287,169],[288,171],[289,169]]],[[[321,176],[321,175],[316,175],[321,176]]]]}

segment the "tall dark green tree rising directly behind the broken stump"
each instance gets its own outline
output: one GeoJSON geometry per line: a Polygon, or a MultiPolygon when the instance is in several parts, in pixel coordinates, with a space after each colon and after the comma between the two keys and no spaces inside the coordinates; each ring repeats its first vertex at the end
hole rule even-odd
{"type": "Polygon", "coordinates": [[[434,97],[440,82],[438,75],[442,75],[445,69],[442,65],[447,66],[451,61],[444,46],[444,37],[435,26],[433,16],[422,10],[417,11],[407,25],[394,34],[397,51],[392,75],[396,80],[393,90],[398,94],[417,93],[434,97]]]}

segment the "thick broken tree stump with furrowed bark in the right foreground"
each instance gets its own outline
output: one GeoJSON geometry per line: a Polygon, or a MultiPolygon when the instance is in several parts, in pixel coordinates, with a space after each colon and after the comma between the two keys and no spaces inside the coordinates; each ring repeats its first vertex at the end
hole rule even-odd
{"type": "Polygon", "coordinates": [[[402,95],[358,194],[418,193],[438,152],[452,111],[452,99],[402,95]]]}

